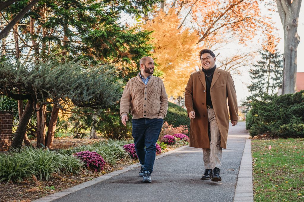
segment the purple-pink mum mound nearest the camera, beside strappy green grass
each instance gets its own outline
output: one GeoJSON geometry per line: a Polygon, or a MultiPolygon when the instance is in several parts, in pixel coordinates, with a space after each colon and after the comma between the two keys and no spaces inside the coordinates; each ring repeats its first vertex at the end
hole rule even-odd
{"type": "Polygon", "coordinates": [[[88,168],[95,171],[102,170],[105,166],[105,160],[97,152],[83,151],[74,154],[80,158],[88,168]]]}

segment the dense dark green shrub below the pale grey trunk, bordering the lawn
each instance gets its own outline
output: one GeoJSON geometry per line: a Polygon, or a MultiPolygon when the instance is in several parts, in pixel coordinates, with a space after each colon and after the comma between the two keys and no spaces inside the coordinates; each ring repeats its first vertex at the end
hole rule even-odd
{"type": "Polygon", "coordinates": [[[304,137],[304,91],[281,96],[264,96],[251,103],[246,128],[250,135],[304,137]]]}

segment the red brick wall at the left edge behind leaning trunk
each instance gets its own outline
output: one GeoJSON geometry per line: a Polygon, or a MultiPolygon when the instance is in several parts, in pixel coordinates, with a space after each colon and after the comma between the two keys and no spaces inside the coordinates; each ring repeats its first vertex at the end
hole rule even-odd
{"type": "Polygon", "coordinates": [[[0,148],[7,148],[13,138],[13,115],[9,111],[0,111],[0,148]]]}

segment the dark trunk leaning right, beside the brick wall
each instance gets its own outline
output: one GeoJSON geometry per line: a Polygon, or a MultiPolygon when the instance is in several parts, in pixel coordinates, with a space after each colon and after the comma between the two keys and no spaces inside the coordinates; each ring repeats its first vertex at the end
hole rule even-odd
{"type": "Polygon", "coordinates": [[[29,100],[27,101],[26,107],[22,113],[21,118],[19,119],[19,124],[12,141],[13,148],[21,148],[22,140],[24,134],[26,133],[26,126],[32,116],[33,111],[33,100],[29,100]]]}

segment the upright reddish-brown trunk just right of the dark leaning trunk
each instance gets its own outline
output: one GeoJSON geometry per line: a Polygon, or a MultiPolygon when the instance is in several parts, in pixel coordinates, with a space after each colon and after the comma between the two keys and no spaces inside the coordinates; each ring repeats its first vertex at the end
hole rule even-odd
{"type": "MultiPolygon", "coordinates": [[[[39,106],[37,106],[38,108],[39,106]]],[[[47,128],[47,105],[42,105],[37,113],[37,147],[45,146],[47,128]],[[41,145],[42,144],[42,145],[41,145]]]]}

